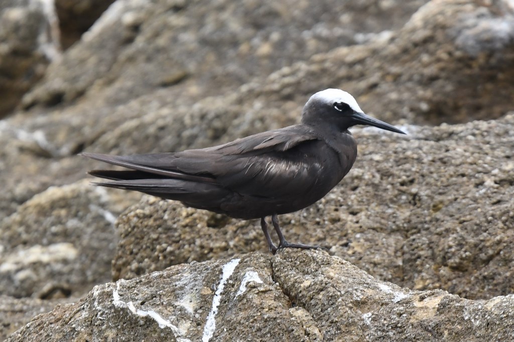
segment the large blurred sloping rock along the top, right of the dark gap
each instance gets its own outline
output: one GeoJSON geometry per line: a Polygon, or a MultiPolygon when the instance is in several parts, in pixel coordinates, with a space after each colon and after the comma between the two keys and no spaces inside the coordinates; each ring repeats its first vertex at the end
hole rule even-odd
{"type": "MultiPolygon", "coordinates": [[[[58,9],[66,6],[62,3],[67,2],[59,0],[58,9]]],[[[251,77],[353,44],[357,33],[401,27],[424,3],[247,0],[234,6],[228,0],[121,0],[59,65],[50,67],[24,105],[69,104],[85,97],[103,107],[178,83],[175,96],[219,94],[251,77]]]]}

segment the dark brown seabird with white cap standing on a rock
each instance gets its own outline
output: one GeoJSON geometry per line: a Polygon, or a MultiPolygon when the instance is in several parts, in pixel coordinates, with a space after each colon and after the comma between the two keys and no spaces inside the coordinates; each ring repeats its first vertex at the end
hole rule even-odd
{"type": "Polygon", "coordinates": [[[297,125],[181,152],[81,155],[127,169],[89,171],[107,179],[95,185],[140,191],[233,218],[260,219],[275,254],[283,248],[319,248],[288,242],[278,215],[316,203],[350,171],[357,142],[348,128],[355,125],[406,134],[364,114],[351,94],[325,89],[310,96],[297,125]],[[269,216],[278,246],[268,231],[269,216]]]}

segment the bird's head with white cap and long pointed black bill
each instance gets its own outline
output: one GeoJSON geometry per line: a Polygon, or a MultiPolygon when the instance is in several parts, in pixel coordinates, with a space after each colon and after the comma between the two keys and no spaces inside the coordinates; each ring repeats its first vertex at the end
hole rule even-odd
{"type": "Polygon", "coordinates": [[[355,98],[340,89],[325,89],[310,96],[303,107],[302,123],[336,127],[340,131],[355,125],[369,125],[405,134],[388,123],[364,114],[355,98]]]}

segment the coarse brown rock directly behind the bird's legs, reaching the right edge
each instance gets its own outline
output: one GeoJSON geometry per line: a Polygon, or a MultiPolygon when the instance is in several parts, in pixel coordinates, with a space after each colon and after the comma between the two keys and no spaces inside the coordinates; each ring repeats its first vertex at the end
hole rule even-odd
{"type": "MultiPolygon", "coordinates": [[[[317,204],[280,216],[286,238],[400,286],[467,298],[512,293],[514,113],[402,129],[407,136],[355,129],[353,169],[317,204]]],[[[114,279],[267,250],[257,220],[222,217],[145,197],[118,219],[114,279]]]]}

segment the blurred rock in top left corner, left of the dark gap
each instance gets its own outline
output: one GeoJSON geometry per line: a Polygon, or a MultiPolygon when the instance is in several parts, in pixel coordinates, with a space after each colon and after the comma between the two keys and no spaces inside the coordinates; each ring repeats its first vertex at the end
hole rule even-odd
{"type": "Polygon", "coordinates": [[[0,4],[0,118],[59,57],[57,17],[51,2],[3,0],[0,4]]]}

